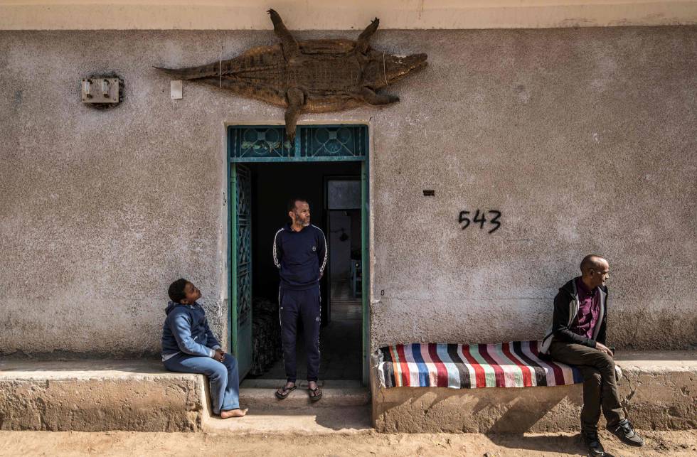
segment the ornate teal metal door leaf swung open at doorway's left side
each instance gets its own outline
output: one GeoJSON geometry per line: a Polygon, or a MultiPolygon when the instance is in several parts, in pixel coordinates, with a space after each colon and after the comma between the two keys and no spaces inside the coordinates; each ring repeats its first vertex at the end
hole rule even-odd
{"type": "Polygon", "coordinates": [[[232,249],[230,271],[232,305],[230,329],[232,351],[237,358],[240,380],[252,367],[252,175],[240,163],[230,170],[230,192],[235,197],[231,217],[232,237],[237,246],[232,249]]]}

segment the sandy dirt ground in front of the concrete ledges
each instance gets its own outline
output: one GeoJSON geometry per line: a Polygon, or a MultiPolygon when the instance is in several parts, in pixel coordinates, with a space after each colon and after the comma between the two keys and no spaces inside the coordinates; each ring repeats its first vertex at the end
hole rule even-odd
{"type": "MultiPolygon", "coordinates": [[[[602,433],[614,456],[697,456],[697,430],[645,431],[629,448],[602,433]]],[[[0,431],[0,456],[584,456],[577,434],[244,435],[0,431]]]]}

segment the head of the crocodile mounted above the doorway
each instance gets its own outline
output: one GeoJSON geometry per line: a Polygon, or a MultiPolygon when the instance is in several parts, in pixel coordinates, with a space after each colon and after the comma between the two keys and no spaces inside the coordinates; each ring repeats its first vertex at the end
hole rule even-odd
{"type": "Polygon", "coordinates": [[[373,89],[393,85],[406,75],[425,68],[427,55],[392,55],[371,49],[363,70],[363,82],[373,89]]]}

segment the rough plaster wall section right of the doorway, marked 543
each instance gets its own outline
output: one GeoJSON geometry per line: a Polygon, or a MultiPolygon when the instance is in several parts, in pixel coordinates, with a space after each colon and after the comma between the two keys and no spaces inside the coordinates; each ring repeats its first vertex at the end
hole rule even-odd
{"type": "Polygon", "coordinates": [[[395,34],[430,68],[373,128],[373,343],[541,338],[591,252],[610,260],[613,345],[697,343],[696,38],[395,34]],[[460,230],[477,209],[501,228],[460,230]]]}

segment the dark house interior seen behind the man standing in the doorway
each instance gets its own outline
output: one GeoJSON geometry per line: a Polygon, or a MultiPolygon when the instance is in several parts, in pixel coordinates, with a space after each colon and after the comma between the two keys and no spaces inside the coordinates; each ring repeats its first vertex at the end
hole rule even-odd
{"type": "MultiPolygon", "coordinates": [[[[361,380],[361,294],[353,294],[350,276],[351,257],[354,262],[361,262],[361,163],[254,163],[249,168],[254,227],[250,377],[275,380],[286,377],[277,325],[279,277],[272,247],[277,230],[289,222],[288,198],[299,195],[307,199],[311,222],[324,232],[329,252],[329,267],[320,281],[320,376],[324,380],[361,380]],[[358,183],[358,195],[353,195],[358,200],[349,205],[358,208],[335,209],[337,200],[347,198],[341,194],[345,186],[336,184],[346,182],[358,183]]],[[[307,373],[303,332],[299,323],[299,380],[304,380],[307,373]]]]}

